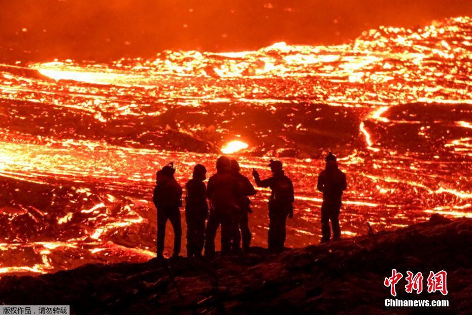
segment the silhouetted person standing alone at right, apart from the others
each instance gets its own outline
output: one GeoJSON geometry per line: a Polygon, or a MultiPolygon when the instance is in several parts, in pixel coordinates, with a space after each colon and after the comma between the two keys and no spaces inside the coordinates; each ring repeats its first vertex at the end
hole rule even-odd
{"type": "Polygon", "coordinates": [[[341,238],[339,226],[339,213],[341,209],[341,197],[346,190],[346,175],[338,168],[336,156],[331,152],[324,159],[326,168],[318,177],[317,188],[323,193],[321,204],[321,242],[327,242],[330,237],[329,220],[333,229],[333,240],[341,238]]]}

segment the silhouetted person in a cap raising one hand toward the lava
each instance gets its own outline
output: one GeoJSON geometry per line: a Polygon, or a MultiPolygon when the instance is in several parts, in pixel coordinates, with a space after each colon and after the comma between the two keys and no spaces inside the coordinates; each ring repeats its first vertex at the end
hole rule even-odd
{"type": "Polygon", "coordinates": [[[259,187],[270,187],[272,190],[269,197],[269,231],[268,247],[271,253],[279,253],[285,244],[285,223],[287,215],[293,217],[293,184],[284,175],[282,162],[271,160],[268,165],[272,171],[272,177],[261,180],[259,173],[253,169],[254,180],[259,187]]]}

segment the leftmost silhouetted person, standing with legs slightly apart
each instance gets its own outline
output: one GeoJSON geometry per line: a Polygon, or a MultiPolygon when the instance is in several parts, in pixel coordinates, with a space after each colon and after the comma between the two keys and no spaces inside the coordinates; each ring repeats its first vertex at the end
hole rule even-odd
{"type": "Polygon", "coordinates": [[[182,206],[182,187],[174,178],[175,168],[173,163],[164,166],[156,174],[156,187],[152,200],[157,209],[157,257],[163,258],[165,224],[167,219],[171,221],[174,229],[174,254],[180,253],[182,226],[180,223],[180,210],[182,206]]]}

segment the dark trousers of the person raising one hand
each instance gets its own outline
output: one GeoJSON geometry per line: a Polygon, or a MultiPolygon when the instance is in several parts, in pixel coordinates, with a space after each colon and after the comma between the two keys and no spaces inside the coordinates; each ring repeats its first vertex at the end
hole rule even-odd
{"type": "Polygon", "coordinates": [[[271,253],[279,253],[285,244],[285,223],[287,221],[289,207],[273,206],[269,204],[269,231],[267,243],[271,253]]]}

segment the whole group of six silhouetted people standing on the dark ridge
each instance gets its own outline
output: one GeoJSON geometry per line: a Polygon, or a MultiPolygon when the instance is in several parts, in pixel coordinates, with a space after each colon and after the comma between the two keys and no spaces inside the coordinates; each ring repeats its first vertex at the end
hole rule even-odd
{"type": "MultiPolygon", "coordinates": [[[[317,188],[323,193],[321,206],[322,242],[330,239],[329,221],[333,240],[341,237],[339,214],[341,197],[346,190],[346,176],[339,170],[336,157],[329,152],[326,168],[318,177],[317,188]]],[[[272,176],[260,179],[253,169],[254,181],[259,187],[271,188],[268,200],[269,230],[268,249],[280,253],[284,249],[287,217],[293,217],[294,192],[292,181],[284,174],[280,161],[271,160],[268,167],[272,176]]],[[[174,229],[174,253],[181,249],[182,226],[180,210],[182,187],[174,177],[173,163],[156,173],[153,202],[157,208],[157,256],[163,258],[165,225],[170,220],[174,229]]],[[[256,191],[251,181],[240,173],[236,160],[220,156],[216,161],[216,174],[205,185],[207,170],[195,165],[192,178],[185,184],[185,220],[187,223],[187,257],[199,258],[205,249],[205,257],[215,255],[215,237],[221,227],[221,254],[248,253],[251,243],[248,214],[252,212],[249,196],[256,191]],[[209,200],[209,204],[207,203],[209,200]],[[242,248],[240,247],[242,243],[242,248]]]]}

